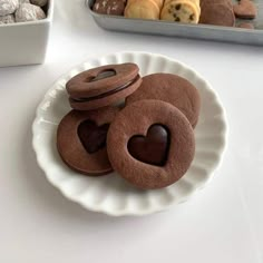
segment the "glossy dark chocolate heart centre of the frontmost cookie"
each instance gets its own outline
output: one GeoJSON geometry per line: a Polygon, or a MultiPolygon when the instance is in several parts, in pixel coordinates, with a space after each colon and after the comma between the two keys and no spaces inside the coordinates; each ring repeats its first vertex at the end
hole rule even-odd
{"type": "Polygon", "coordinates": [[[154,124],[146,136],[133,136],[127,147],[134,158],[146,164],[164,166],[169,150],[169,130],[160,124],[154,124]]]}

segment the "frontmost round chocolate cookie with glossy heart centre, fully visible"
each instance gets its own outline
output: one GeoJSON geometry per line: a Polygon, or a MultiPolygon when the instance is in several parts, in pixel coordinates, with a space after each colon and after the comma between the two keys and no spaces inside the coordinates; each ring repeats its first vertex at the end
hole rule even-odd
{"type": "Polygon", "coordinates": [[[111,123],[109,160],[125,179],[144,189],[178,181],[195,153],[194,132],[186,117],[171,104],[140,100],[124,108],[111,123]]]}

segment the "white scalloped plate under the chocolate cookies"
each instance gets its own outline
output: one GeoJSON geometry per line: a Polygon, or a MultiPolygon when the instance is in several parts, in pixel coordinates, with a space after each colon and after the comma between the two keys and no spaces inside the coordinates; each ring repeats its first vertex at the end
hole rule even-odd
{"type": "Polygon", "coordinates": [[[193,69],[167,57],[145,52],[118,52],[90,59],[61,77],[46,94],[32,125],[32,144],[37,160],[49,182],[69,199],[90,211],[109,215],[144,215],[186,201],[202,188],[222,160],[226,146],[226,119],[218,97],[193,69]],[[199,91],[202,109],[195,128],[196,153],[187,173],[163,189],[139,191],[119,175],[88,177],[69,169],[56,148],[56,132],[60,119],[70,110],[66,82],[80,71],[107,64],[135,62],[140,75],[171,72],[188,79],[199,91]]]}

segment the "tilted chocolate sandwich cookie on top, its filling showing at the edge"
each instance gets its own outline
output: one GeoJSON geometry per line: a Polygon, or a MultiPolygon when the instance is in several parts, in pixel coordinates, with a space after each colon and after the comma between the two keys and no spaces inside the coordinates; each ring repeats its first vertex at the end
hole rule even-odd
{"type": "Polygon", "coordinates": [[[136,64],[106,65],[78,74],[66,89],[74,109],[90,110],[125,99],[140,85],[136,64]]]}

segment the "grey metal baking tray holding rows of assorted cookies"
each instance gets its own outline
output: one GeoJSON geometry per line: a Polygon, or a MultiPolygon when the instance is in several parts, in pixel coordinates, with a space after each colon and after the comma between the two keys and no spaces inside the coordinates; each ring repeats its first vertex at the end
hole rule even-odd
{"type": "MultiPolygon", "coordinates": [[[[91,10],[94,2],[95,0],[86,0],[86,6],[96,23],[106,30],[205,39],[263,47],[263,0],[254,0],[257,7],[257,17],[250,21],[253,22],[255,27],[255,29],[252,30],[235,27],[188,25],[162,20],[128,19],[125,17],[99,14],[91,10]]],[[[236,1],[233,0],[233,2],[236,1]]]]}

